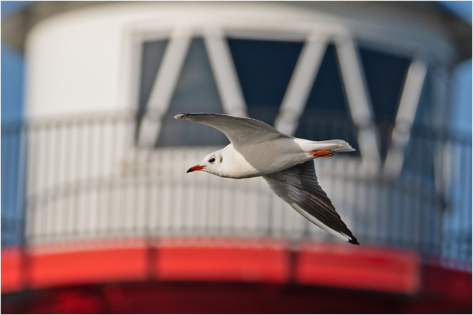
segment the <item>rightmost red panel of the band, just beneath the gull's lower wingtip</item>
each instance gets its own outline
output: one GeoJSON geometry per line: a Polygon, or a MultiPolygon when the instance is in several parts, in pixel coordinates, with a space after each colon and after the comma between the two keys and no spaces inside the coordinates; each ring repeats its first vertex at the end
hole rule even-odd
{"type": "Polygon", "coordinates": [[[301,284],[404,294],[420,289],[420,258],[412,252],[303,242],[297,257],[301,284]]]}

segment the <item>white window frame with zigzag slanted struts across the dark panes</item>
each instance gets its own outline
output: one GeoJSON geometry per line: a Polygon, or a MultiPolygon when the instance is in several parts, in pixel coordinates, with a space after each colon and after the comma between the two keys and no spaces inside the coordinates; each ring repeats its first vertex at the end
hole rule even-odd
{"type": "MultiPolygon", "coordinates": [[[[278,130],[288,135],[294,135],[298,127],[298,121],[305,109],[326,47],[328,43],[333,42],[336,46],[350,116],[358,129],[357,139],[363,168],[368,174],[377,174],[382,169],[379,135],[358,47],[347,30],[321,28],[320,25],[289,31],[281,30],[281,26],[279,29],[276,26],[274,29],[261,26],[232,28],[214,24],[169,27],[168,29],[172,31],[163,30],[162,27],[153,27],[155,27],[154,31],[149,26],[148,29],[146,26],[132,27],[125,36],[128,37],[125,41],[128,43],[125,43],[125,46],[128,45],[131,48],[125,55],[132,60],[128,62],[128,71],[126,71],[131,76],[128,81],[128,86],[132,86],[129,88],[131,93],[128,93],[128,102],[132,104],[131,111],[136,111],[138,106],[142,44],[147,40],[168,40],[145,114],[141,120],[138,145],[135,149],[153,149],[161,129],[162,117],[169,108],[193,37],[203,38],[223,110],[226,114],[234,116],[246,116],[247,110],[226,39],[304,41],[274,123],[278,130]]],[[[423,65],[425,66],[425,63],[423,65]]],[[[425,73],[422,74],[421,68],[418,61],[412,62],[403,87],[403,97],[394,123],[392,143],[388,148],[383,168],[388,177],[397,176],[400,172],[399,165],[402,167],[404,147],[407,143],[406,135],[408,139],[425,78],[425,73]],[[406,121],[408,125],[410,124],[409,128],[401,132],[401,124],[405,124],[406,121]]]]}

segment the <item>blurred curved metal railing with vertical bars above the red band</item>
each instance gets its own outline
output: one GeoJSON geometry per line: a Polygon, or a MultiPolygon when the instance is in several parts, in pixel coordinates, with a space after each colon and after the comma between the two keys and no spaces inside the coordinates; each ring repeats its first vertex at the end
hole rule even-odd
{"type": "MultiPolygon", "coordinates": [[[[218,147],[138,149],[135,128],[131,115],[110,114],[2,124],[2,246],[184,235],[337,241],[262,178],[185,173],[218,147]]],[[[315,169],[361,244],[471,263],[471,141],[413,129],[396,179],[367,174],[356,154],[316,159],[315,169]]]]}

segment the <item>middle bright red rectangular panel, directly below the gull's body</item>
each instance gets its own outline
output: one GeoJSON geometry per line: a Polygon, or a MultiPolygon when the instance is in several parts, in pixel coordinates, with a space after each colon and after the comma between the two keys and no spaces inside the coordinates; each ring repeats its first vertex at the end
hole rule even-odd
{"type": "Polygon", "coordinates": [[[164,239],[158,244],[155,266],[159,280],[289,280],[289,251],[284,241],[202,238],[164,239]]]}

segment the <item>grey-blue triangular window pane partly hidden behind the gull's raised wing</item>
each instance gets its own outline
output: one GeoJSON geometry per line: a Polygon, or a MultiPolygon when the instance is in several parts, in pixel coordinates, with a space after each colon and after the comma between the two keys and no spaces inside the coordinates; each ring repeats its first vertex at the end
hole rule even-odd
{"type": "Polygon", "coordinates": [[[217,86],[201,38],[194,38],[184,61],[169,109],[162,119],[157,146],[228,145],[219,130],[187,119],[174,119],[181,113],[223,114],[217,86]]]}

